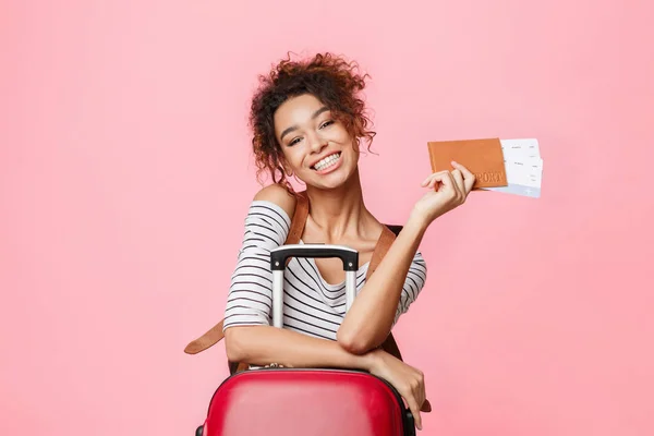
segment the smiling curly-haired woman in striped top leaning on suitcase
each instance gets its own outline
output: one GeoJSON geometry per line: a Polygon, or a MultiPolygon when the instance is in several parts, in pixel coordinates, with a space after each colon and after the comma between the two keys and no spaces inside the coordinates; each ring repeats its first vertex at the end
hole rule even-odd
{"type": "Polygon", "coordinates": [[[223,324],[228,359],[292,367],[370,371],[396,387],[422,428],[423,373],[383,351],[398,317],[422,290],[426,266],[419,245],[427,227],[461,205],[473,174],[452,171],[427,177],[428,192],[370,280],[363,280],[383,225],[366,209],[360,174],[362,140],[374,132],[359,97],[365,76],[355,64],[327,55],[280,62],[254,96],[251,123],[259,173],[274,183],[259,191],[245,219],[245,235],[232,276],[223,324]],[[288,182],[306,185],[310,214],[301,243],[347,245],[360,253],[358,296],[344,315],[344,272],[339,259],[293,258],[284,274],[284,328],[269,326],[269,251],[284,243],[298,202],[288,182]]]}

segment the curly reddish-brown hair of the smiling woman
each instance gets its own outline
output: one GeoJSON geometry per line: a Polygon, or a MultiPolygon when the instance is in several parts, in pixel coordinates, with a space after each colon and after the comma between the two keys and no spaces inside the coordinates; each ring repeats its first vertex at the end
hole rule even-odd
{"type": "Polygon", "coordinates": [[[360,74],[356,62],[348,62],[332,53],[318,53],[303,61],[281,60],[265,75],[259,75],[259,87],[251,105],[250,125],[253,130],[252,146],[257,167],[257,180],[264,171],[270,174],[274,183],[286,185],[292,193],[282,166],[282,150],[275,136],[274,114],[286,100],[311,94],[327,106],[335,119],[342,122],[354,145],[361,140],[368,143],[368,150],[375,132],[365,113],[365,104],[359,93],[365,87],[368,74],[360,74]],[[278,177],[279,174],[279,177],[278,177]]]}

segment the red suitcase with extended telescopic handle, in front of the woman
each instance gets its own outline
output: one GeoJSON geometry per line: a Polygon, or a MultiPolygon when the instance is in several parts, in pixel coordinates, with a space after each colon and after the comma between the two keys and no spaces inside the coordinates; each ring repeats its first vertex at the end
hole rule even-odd
{"type": "MultiPolygon", "coordinates": [[[[282,327],[287,259],[339,257],[346,270],[346,311],[355,293],[359,253],[339,245],[282,245],[270,253],[272,324],[282,327]]],[[[363,371],[250,368],[216,389],[196,436],[403,436],[415,435],[411,412],[397,390],[363,371]]]]}

